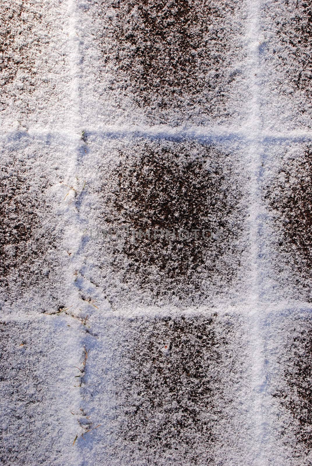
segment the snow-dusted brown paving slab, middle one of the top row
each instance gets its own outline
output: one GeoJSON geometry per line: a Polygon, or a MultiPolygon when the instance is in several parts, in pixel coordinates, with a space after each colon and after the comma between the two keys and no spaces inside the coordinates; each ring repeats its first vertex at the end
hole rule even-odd
{"type": "Polygon", "coordinates": [[[81,111],[90,124],[176,126],[244,116],[239,2],[87,0],[77,2],[76,15],[81,111]]]}

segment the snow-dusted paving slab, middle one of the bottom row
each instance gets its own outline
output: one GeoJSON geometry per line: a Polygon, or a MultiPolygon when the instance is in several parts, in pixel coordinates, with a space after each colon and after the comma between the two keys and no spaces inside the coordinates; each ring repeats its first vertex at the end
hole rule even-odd
{"type": "Polygon", "coordinates": [[[82,396],[101,426],[77,440],[85,464],[249,464],[241,321],[209,311],[94,316],[82,396]]]}

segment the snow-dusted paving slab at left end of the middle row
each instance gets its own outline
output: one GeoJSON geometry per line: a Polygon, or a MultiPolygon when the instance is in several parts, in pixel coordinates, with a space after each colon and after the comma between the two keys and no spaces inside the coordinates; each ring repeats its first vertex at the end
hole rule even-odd
{"type": "Polygon", "coordinates": [[[1,140],[1,303],[18,314],[65,307],[70,292],[64,270],[70,260],[77,210],[67,178],[70,139],[8,133],[1,140]]]}

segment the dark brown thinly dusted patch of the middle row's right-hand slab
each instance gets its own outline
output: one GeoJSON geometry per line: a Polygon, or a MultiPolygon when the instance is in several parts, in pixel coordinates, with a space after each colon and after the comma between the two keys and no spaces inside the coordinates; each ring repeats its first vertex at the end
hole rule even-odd
{"type": "Polygon", "coordinates": [[[265,199],[277,234],[279,264],[292,273],[292,284],[310,299],[312,279],[312,151],[300,145],[286,152],[266,187],[265,199]]]}

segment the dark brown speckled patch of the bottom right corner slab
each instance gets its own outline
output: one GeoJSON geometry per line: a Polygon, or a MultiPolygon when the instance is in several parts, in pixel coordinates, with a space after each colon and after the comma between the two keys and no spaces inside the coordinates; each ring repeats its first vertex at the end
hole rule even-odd
{"type": "MultiPolygon", "coordinates": [[[[289,413],[281,424],[281,439],[290,450],[291,464],[309,464],[312,451],[312,321],[309,312],[292,312],[276,335],[283,345],[278,349],[281,377],[273,397],[289,413]]],[[[277,366],[277,367],[278,367],[277,366]]],[[[283,419],[283,415],[280,416],[283,419]]]]}

